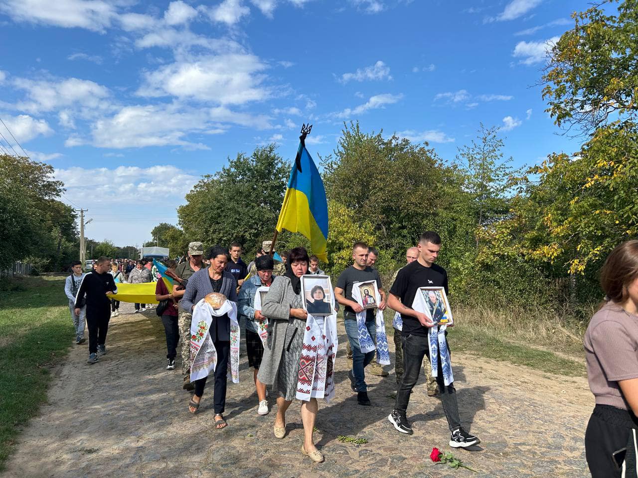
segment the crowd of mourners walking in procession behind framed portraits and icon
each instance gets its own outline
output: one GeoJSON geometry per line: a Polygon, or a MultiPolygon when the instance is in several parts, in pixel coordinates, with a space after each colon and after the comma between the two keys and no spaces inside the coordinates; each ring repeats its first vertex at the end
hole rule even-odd
{"type": "MultiPolygon", "coordinates": [[[[389,291],[383,287],[380,274],[374,267],[379,251],[368,247],[366,243],[355,243],[352,265],[339,274],[334,284],[334,300],[333,297],[326,300],[326,291],[317,286],[309,291],[311,299],[304,300],[302,277],[324,275],[318,257],[309,255],[303,247],[297,247],[280,252],[282,261],[276,262],[269,254],[271,245],[270,241],[263,242],[262,248],[256,251],[255,259],[249,264],[242,260],[242,245],[237,242],[230,244],[228,249],[215,246],[207,252],[202,242],[191,242],[187,260],[179,264],[176,261],[164,261],[167,273],[177,278],[173,281],[172,290],[167,288],[163,280],[158,280],[156,284],[156,300],[160,304],[164,303],[161,306],[161,321],[167,343],[166,368],[175,368],[179,350],[181,385],[192,392],[188,402],[189,412],[196,413],[200,408],[210,374],[214,380],[215,428],[228,426],[224,416],[227,370],[237,368],[235,362],[238,361],[239,346],[236,344],[238,334],[234,324],[241,323],[239,335],[245,338],[248,363],[253,368],[258,396],[257,414],[269,414],[270,391],[277,405],[273,433],[277,438],[284,438],[286,411],[293,400],[299,397],[299,377],[303,372],[300,370],[300,359],[306,350],[309,320],[313,318],[316,321],[323,316],[318,323],[324,327],[323,330],[327,330],[325,327],[329,326],[329,317],[325,315],[334,314],[336,317],[339,308],[343,309],[348,345],[352,351],[352,365],[348,372],[350,387],[356,393],[357,403],[364,407],[371,405],[367,393],[366,367],[378,356],[376,344],[381,344],[379,333],[383,334],[385,341],[385,326],[382,326],[383,330],[379,329],[376,314],[389,307],[396,311],[393,326],[396,329],[394,366],[397,379],[396,403],[388,416],[389,422],[396,431],[412,435],[412,426],[406,414],[410,395],[423,365],[426,373],[434,375],[428,380],[434,383],[441,396],[450,428],[450,446],[470,447],[480,442],[479,438],[461,426],[454,382],[447,381],[441,370],[445,360],[433,362],[438,366],[438,373],[430,371],[428,330],[433,323],[423,310],[412,307],[420,287],[439,286],[447,293],[447,273],[435,264],[441,247],[438,234],[424,233],[417,246],[407,250],[407,264],[397,271],[389,291]],[[357,285],[362,282],[374,282],[376,287],[368,286],[365,289],[367,293],[362,296],[358,293],[357,285]],[[375,295],[377,291],[378,295],[375,295]],[[225,305],[209,307],[207,301],[216,294],[221,294],[223,300],[220,303],[225,305]],[[202,310],[210,313],[202,315],[202,310]],[[362,345],[362,334],[371,338],[372,349],[362,345]],[[204,361],[202,356],[206,357],[204,361]]],[[[88,274],[82,273],[81,264],[73,264],[73,273],[66,280],[65,290],[78,344],[84,342],[84,320],[89,328],[89,363],[95,363],[98,356],[106,353],[108,320],[117,316],[119,304],[108,300],[107,294],[117,297],[117,284],[120,282],[137,284],[157,279],[158,275],[152,272],[149,264],[142,261],[137,261],[133,266],[128,260],[112,261],[100,257],[94,264],[94,271],[88,274]]],[[[138,310],[144,311],[145,304],[135,304],[135,312],[138,310]]],[[[236,328],[239,330],[239,327],[236,328]]],[[[387,351],[387,342],[383,343],[387,351]]],[[[332,350],[336,351],[336,345],[335,341],[329,348],[334,346],[332,350]]],[[[380,364],[376,366],[382,368],[380,364]]],[[[328,368],[325,373],[327,376],[334,370],[334,363],[330,362],[328,368]]],[[[325,380],[322,386],[325,386],[326,394],[322,396],[327,396],[329,387],[334,386],[329,384],[330,377],[325,380]]],[[[323,461],[323,454],[313,440],[317,399],[310,393],[300,400],[300,405],[304,427],[300,451],[313,461],[323,461]]]]}

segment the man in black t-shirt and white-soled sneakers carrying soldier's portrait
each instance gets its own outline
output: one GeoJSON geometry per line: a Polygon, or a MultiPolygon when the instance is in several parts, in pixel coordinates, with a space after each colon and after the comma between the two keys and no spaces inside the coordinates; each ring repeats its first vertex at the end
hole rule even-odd
{"type": "MultiPolygon", "coordinates": [[[[401,344],[403,345],[405,369],[397,389],[394,410],[388,419],[397,431],[408,435],[412,435],[413,431],[412,426],[408,423],[406,410],[412,389],[419,379],[421,362],[424,356],[429,357],[428,333],[434,325],[426,314],[413,310],[412,303],[420,287],[443,287],[445,293],[448,293],[447,272],[441,266],[434,264],[441,249],[441,237],[437,233],[427,231],[421,235],[417,248],[419,249],[419,257],[399,271],[390,289],[388,299],[389,307],[399,312],[401,319],[403,319],[401,344]]],[[[447,386],[443,382],[440,358],[438,359],[438,373],[436,375],[436,383],[441,394],[441,402],[443,402],[443,411],[452,433],[450,446],[464,448],[480,443],[479,438],[470,435],[461,427],[454,382],[447,386]]]]}

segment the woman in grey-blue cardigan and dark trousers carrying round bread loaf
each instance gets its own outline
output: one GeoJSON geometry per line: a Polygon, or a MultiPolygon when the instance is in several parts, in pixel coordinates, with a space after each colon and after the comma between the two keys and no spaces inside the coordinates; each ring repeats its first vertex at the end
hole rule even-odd
{"type": "MultiPolygon", "coordinates": [[[[228,262],[228,249],[221,246],[214,246],[208,252],[207,257],[211,260],[211,265],[205,269],[195,272],[186,286],[184,296],[179,301],[179,308],[184,312],[193,313],[195,305],[210,293],[218,292],[224,294],[227,300],[237,302],[237,282],[230,272],[226,272],[228,262]]],[[[216,317],[209,329],[211,340],[217,351],[217,365],[215,366],[215,428],[221,429],[226,426],[223,416],[226,405],[226,370],[228,359],[230,358],[230,318],[228,314],[216,317]]],[[[184,340],[184,338],[182,338],[184,340]]],[[[188,340],[188,338],[186,338],[188,340]]],[[[204,395],[206,379],[195,380],[195,395],[188,403],[191,413],[197,412],[200,400],[204,395]]]]}

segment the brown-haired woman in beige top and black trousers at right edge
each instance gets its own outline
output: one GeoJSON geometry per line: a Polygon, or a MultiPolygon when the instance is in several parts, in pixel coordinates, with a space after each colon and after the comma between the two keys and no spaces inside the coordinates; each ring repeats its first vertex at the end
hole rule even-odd
{"type": "Polygon", "coordinates": [[[637,477],[638,240],[614,249],[601,270],[605,303],[584,337],[596,406],[585,433],[592,478],[637,477]]]}

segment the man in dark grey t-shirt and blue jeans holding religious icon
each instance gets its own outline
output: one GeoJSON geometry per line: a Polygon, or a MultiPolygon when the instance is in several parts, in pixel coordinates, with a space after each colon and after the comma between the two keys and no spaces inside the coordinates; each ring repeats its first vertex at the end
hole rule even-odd
{"type": "MultiPolygon", "coordinates": [[[[376,269],[367,266],[367,245],[357,242],[352,248],[352,259],[354,264],[348,267],[339,275],[337,286],[334,288],[334,296],[337,301],[345,306],[343,319],[348,334],[348,341],[352,348],[352,370],[348,372],[350,386],[357,392],[357,402],[359,405],[371,405],[367,397],[366,375],[364,368],[368,365],[376,351],[364,354],[359,347],[359,333],[357,331],[357,314],[363,312],[364,308],[352,298],[352,285],[355,282],[375,280],[379,289],[381,302],[378,304],[379,310],[385,309],[385,292],[381,286],[381,277],[376,269]]],[[[366,328],[372,340],[376,343],[376,321],[375,309],[369,308],[366,311],[366,328]]]]}

